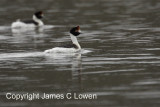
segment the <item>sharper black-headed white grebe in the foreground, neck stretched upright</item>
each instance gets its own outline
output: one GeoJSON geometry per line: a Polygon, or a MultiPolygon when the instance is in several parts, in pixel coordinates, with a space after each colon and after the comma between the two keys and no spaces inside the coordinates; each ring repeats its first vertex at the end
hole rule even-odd
{"type": "Polygon", "coordinates": [[[56,52],[61,52],[61,53],[69,53],[69,52],[78,52],[81,50],[81,46],[78,43],[77,36],[81,34],[80,27],[74,27],[70,30],[70,37],[72,40],[72,44],[66,45],[63,47],[55,47],[49,50],[46,50],[45,53],[56,53],[56,52]]]}

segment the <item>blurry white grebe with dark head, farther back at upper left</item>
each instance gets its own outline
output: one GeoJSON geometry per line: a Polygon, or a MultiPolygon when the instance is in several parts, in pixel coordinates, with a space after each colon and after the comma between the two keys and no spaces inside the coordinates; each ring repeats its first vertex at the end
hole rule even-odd
{"type": "Polygon", "coordinates": [[[42,26],[44,25],[42,22],[43,18],[43,12],[38,11],[35,12],[32,19],[30,20],[20,20],[18,19],[16,22],[13,22],[11,27],[12,28],[23,28],[23,27],[37,27],[37,26],[42,26]]]}

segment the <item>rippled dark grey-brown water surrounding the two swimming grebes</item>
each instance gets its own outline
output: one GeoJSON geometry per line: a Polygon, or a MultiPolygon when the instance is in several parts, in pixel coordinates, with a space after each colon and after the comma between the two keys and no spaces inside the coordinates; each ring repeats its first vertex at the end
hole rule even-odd
{"type": "Polygon", "coordinates": [[[0,106],[158,107],[160,1],[1,0],[0,106]],[[18,18],[45,14],[44,28],[13,30],[18,18]],[[81,54],[46,55],[80,25],[81,54]],[[7,100],[12,93],[94,93],[96,100],[7,100]]]}

